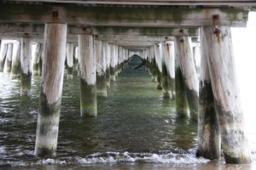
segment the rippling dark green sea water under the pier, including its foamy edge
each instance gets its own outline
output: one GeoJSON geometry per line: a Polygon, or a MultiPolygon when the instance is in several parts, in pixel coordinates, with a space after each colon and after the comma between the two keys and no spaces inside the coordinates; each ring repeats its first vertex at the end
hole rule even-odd
{"type": "Polygon", "coordinates": [[[57,156],[44,159],[33,155],[40,77],[26,98],[19,81],[0,73],[0,167],[222,169],[223,161],[195,157],[197,123],[177,119],[175,101],[162,98],[147,71],[131,69],[137,62],[111,82],[108,98],[98,98],[97,117],[80,116],[79,77],[64,79],[57,156]]]}

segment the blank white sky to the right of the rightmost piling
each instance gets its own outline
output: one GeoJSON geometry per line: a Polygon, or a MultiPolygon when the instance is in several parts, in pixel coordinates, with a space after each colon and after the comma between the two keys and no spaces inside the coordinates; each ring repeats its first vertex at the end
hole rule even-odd
{"type": "Polygon", "coordinates": [[[241,105],[247,122],[255,124],[251,121],[256,118],[256,12],[249,13],[246,28],[232,27],[231,34],[241,105]]]}

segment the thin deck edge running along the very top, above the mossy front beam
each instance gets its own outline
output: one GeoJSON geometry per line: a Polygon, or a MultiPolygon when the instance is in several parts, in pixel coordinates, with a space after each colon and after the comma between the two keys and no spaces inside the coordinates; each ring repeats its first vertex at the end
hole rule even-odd
{"type": "MultiPolygon", "coordinates": [[[[17,0],[9,0],[17,1],[17,0]]],[[[18,0],[17,2],[27,2],[18,0]]],[[[256,5],[254,0],[32,0],[33,2],[48,3],[97,3],[125,5],[256,5]]]]}

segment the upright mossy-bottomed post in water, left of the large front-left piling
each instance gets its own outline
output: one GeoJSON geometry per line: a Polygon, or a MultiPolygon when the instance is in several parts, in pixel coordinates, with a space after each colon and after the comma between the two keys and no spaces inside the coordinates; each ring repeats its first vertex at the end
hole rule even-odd
{"type": "Polygon", "coordinates": [[[32,81],[32,39],[21,38],[20,96],[30,96],[32,81]]]}

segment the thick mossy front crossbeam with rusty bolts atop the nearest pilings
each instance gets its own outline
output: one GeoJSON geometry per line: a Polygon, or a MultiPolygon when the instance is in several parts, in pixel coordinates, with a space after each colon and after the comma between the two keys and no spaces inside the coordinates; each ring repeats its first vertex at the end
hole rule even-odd
{"type": "Polygon", "coordinates": [[[246,26],[239,8],[112,8],[0,3],[0,22],[88,26],[246,26]],[[214,22],[212,22],[214,20],[214,22]]]}

